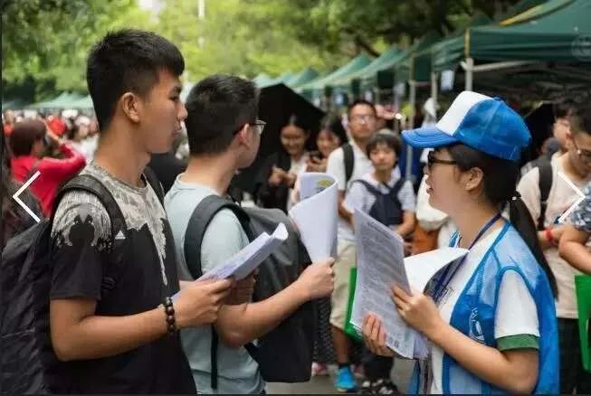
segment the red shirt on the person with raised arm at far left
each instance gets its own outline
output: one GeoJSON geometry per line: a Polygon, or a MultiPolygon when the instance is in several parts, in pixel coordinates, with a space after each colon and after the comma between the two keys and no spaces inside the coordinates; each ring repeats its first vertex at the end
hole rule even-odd
{"type": "Polygon", "coordinates": [[[33,176],[31,170],[37,162],[37,170],[41,172],[29,188],[39,199],[41,209],[46,217],[52,215],[53,200],[60,186],[71,176],[77,174],[84,165],[86,159],[78,151],[68,145],[62,144],[60,150],[64,159],[36,156],[17,156],[11,159],[12,173],[15,180],[24,183],[28,177],[33,176]]]}

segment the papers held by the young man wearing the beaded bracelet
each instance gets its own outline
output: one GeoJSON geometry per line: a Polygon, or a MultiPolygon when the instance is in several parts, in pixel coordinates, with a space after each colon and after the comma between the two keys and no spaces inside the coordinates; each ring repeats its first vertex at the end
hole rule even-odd
{"type": "MultiPolygon", "coordinates": [[[[238,251],[223,264],[206,272],[198,280],[205,279],[224,279],[234,277],[236,280],[246,278],[254,269],[256,269],[264,259],[267,259],[273,250],[277,249],[288,237],[288,231],[285,224],[280,223],[271,235],[263,232],[255,240],[238,251]]],[[[173,300],[178,297],[182,291],[173,296],[173,300]]]]}

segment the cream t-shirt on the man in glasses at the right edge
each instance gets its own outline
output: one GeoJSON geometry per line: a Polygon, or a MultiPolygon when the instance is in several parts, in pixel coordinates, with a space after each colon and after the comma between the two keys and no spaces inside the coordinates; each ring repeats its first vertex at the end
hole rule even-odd
{"type": "MultiPolygon", "coordinates": [[[[546,207],[546,218],[544,226],[556,224],[556,220],[567,209],[577,201],[577,193],[567,184],[558,172],[564,172],[563,161],[567,161],[567,155],[552,157],[552,186],[548,193],[548,206],[546,207]]],[[[591,181],[591,176],[581,183],[576,183],[578,188],[583,189],[586,182],[591,181]]],[[[528,207],[529,213],[535,224],[538,224],[540,213],[539,204],[539,168],[532,168],[527,174],[524,174],[517,186],[517,191],[521,194],[521,199],[528,207]]],[[[558,317],[567,319],[577,319],[577,296],[575,293],[575,276],[582,272],[571,267],[567,261],[560,258],[558,248],[551,247],[544,250],[544,256],[548,260],[548,265],[558,284],[558,302],[556,313],[558,317]]]]}

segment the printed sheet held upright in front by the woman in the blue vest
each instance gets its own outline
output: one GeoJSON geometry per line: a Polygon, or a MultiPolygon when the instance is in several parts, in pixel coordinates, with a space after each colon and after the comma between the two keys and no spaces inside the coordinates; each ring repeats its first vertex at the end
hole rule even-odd
{"type": "Polygon", "coordinates": [[[366,213],[355,211],[357,286],[351,324],[361,328],[368,313],[379,317],[386,330],[386,345],[401,356],[413,358],[415,330],[398,315],[390,297],[390,285],[409,290],[401,238],[366,213]]]}

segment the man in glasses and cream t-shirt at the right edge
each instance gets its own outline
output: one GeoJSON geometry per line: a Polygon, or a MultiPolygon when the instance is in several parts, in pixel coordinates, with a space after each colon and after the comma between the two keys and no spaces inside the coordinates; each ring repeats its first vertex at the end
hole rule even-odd
{"type": "MultiPolygon", "coordinates": [[[[591,181],[591,108],[574,108],[567,131],[567,152],[552,159],[552,186],[546,201],[545,229],[538,232],[539,243],[558,283],[558,338],[560,343],[561,393],[591,392],[591,374],[585,372],[581,363],[577,328],[577,298],[575,276],[581,272],[568,265],[558,254],[558,244],[566,226],[558,218],[577,201],[575,190],[558,173],[583,189],[591,181]]],[[[539,192],[539,168],[531,169],[520,181],[518,191],[536,222],[541,211],[539,192]]]]}

